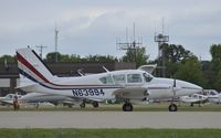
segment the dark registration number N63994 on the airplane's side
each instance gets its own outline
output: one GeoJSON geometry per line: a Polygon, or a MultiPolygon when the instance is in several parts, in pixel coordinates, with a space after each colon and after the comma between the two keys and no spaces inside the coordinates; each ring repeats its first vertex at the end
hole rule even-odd
{"type": "Polygon", "coordinates": [[[74,96],[104,96],[104,91],[97,88],[77,88],[72,89],[74,96]]]}

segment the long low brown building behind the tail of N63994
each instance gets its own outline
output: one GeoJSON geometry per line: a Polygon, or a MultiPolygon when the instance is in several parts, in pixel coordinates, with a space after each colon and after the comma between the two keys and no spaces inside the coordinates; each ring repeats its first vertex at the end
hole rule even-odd
{"type": "MultiPolygon", "coordinates": [[[[77,70],[84,73],[95,74],[105,72],[102,66],[108,71],[117,70],[134,70],[135,63],[110,62],[110,63],[49,63],[49,68],[54,75],[57,76],[77,76],[77,70]]],[[[17,63],[2,64],[0,63],[0,96],[8,93],[17,92],[15,87],[19,84],[19,71],[17,63]]]]}

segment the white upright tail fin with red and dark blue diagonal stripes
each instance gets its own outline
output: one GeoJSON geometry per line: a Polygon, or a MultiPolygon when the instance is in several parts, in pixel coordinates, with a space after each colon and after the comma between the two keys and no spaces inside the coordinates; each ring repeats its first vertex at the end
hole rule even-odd
{"type": "Polygon", "coordinates": [[[17,60],[20,77],[23,75],[35,83],[50,83],[54,79],[49,67],[32,49],[17,50],[17,60]]]}

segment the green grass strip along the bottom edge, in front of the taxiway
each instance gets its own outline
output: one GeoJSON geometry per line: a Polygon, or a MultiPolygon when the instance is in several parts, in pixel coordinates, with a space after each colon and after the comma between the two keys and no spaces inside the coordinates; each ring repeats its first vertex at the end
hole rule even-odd
{"type": "Polygon", "coordinates": [[[221,129],[0,129],[0,138],[220,138],[221,129]]]}

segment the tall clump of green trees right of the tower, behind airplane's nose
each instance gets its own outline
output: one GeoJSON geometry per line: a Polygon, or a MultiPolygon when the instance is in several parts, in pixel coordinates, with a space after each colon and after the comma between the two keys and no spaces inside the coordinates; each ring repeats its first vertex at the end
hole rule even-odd
{"type": "MultiPolygon", "coordinates": [[[[162,44],[166,77],[198,84],[203,88],[221,91],[221,44],[210,46],[211,61],[200,61],[182,45],[162,44]]],[[[154,63],[157,63],[157,59],[154,63]]]]}

